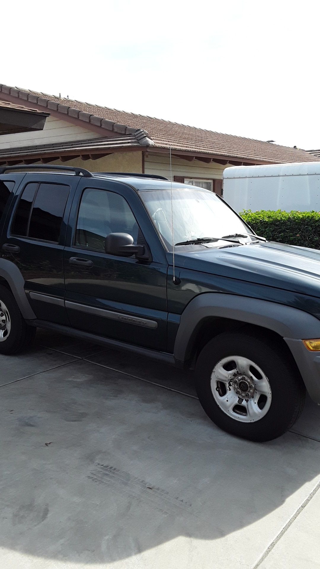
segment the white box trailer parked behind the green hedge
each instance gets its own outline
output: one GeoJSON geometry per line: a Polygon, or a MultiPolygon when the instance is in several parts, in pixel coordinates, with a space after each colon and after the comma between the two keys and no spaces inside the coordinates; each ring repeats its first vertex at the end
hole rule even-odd
{"type": "Polygon", "coordinates": [[[225,168],[223,199],[237,213],[243,209],[320,211],[320,162],[225,168]]]}

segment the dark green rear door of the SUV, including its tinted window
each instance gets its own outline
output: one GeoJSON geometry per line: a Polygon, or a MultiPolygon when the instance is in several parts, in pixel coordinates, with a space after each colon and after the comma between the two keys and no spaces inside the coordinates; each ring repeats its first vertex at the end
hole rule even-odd
{"type": "Polygon", "coordinates": [[[2,253],[19,268],[37,318],[68,324],[63,248],[77,176],[27,174],[9,212],[2,253]]]}

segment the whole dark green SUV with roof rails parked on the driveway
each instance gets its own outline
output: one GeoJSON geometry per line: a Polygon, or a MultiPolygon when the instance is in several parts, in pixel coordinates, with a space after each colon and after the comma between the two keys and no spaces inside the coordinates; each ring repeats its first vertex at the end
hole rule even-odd
{"type": "Polygon", "coordinates": [[[320,253],[257,237],[214,193],[0,168],[0,239],[0,353],[40,327],[195,368],[208,417],[256,441],[292,426],[305,388],[320,402],[320,253]]]}

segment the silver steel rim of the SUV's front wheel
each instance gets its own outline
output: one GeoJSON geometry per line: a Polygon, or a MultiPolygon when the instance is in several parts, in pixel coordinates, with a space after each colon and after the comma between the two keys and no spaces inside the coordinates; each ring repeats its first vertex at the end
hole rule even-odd
{"type": "Polygon", "coordinates": [[[228,356],[215,365],[211,391],[226,415],[241,423],[259,421],[268,413],[271,387],[262,369],[242,356],[228,356]]]}

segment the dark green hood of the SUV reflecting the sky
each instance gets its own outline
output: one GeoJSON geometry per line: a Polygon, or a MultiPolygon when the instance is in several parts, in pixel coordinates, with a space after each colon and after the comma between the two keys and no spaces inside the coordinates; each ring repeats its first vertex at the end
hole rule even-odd
{"type": "Polygon", "coordinates": [[[177,267],[320,297],[320,251],[315,249],[274,242],[187,247],[185,253],[175,251],[177,267]]]}

